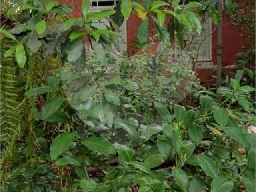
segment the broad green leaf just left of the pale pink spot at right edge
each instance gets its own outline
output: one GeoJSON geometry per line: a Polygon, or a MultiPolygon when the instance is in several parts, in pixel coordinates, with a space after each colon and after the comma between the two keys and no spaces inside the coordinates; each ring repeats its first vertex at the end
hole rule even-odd
{"type": "Polygon", "coordinates": [[[239,126],[225,127],[223,131],[228,137],[232,138],[234,141],[238,142],[240,145],[248,146],[248,142],[241,130],[241,127],[239,126]]]}

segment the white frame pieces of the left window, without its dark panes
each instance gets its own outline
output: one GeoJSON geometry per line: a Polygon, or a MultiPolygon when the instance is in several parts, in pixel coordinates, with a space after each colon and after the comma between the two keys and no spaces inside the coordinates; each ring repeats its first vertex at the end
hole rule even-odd
{"type": "MultiPolygon", "coordinates": [[[[116,6],[117,2],[116,0],[90,0],[91,4],[91,11],[92,12],[97,12],[101,10],[106,10],[106,9],[112,9],[116,6]],[[99,2],[104,2],[104,1],[113,1],[114,5],[113,6],[99,6],[99,2]],[[93,6],[92,2],[96,2],[96,6],[93,6]]],[[[100,22],[93,22],[95,23],[94,26],[100,28],[100,25],[106,25],[108,22],[106,21],[100,21],[100,22]],[[101,24],[102,23],[102,24],[101,24]]],[[[118,44],[121,52],[126,52],[127,51],[127,21],[124,20],[122,26],[120,26],[117,30],[117,35],[118,35],[118,44]]]]}

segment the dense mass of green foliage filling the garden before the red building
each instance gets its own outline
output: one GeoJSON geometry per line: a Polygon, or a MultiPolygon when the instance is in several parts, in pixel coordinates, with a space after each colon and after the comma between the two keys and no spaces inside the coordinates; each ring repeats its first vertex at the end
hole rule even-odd
{"type": "Polygon", "coordinates": [[[205,15],[218,23],[217,2],[122,0],[91,12],[82,1],[80,18],[57,1],[2,3],[2,191],[255,191],[254,72],[244,67],[210,90],[172,60],[172,40],[184,48],[205,15]],[[115,48],[131,12],[142,19],[138,48],[154,22],[157,55],[115,48]],[[92,25],[103,19],[112,28],[92,25]]]}

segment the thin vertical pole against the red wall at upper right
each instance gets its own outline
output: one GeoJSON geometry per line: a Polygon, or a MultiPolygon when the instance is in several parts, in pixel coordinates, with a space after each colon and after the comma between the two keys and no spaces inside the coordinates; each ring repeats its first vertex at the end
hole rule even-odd
{"type": "MultiPolygon", "coordinates": [[[[222,17],[222,1],[218,2],[218,12],[222,17]]],[[[217,87],[221,86],[222,82],[222,20],[217,28],[217,87]]]]}

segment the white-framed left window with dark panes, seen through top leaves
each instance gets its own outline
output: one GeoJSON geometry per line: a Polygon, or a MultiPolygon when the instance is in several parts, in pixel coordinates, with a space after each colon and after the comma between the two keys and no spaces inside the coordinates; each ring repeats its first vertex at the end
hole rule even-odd
{"type": "MultiPolygon", "coordinates": [[[[105,9],[110,9],[116,6],[119,0],[90,0],[92,11],[101,11],[105,9]]],[[[101,20],[99,22],[92,22],[92,25],[97,28],[107,28],[110,24],[106,20],[101,20]]],[[[117,44],[121,52],[127,51],[127,32],[126,32],[126,21],[124,20],[122,26],[116,30],[117,33],[117,44]]]]}

